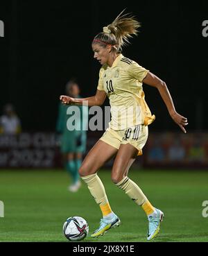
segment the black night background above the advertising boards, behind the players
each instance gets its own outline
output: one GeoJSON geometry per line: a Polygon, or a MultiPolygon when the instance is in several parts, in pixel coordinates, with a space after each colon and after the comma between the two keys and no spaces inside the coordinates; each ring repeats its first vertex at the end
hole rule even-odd
{"type": "MultiPolygon", "coordinates": [[[[96,92],[99,64],[91,42],[126,8],[141,22],[141,33],[123,54],[168,85],[187,130],[206,130],[208,38],[202,37],[207,1],[1,1],[0,111],[15,105],[25,131],[53,131],[58,97],[76,76],[83,96],[96,92]]],[[[156,115],[152,130],[177,131],[159,93],[144,86],[156,115]]],[[[107,103],[108,101],[106,101],[107,103]]]]}

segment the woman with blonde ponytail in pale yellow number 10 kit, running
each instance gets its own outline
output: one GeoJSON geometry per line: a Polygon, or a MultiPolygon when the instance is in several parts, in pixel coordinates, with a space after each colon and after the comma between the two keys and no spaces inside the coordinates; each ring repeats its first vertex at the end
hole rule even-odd
{"type": "Polygon", "coordinates": [[[112,167],[112,182],[146,212],[149,223],[147,239],[150,240],[159,232],[159,223],[164,214],[153,207],[138,185],[128,178],[130,166],[137,155],[142,154],[142,148],[146,144],[148,125],[155,119],[144,100],[142,83],[158,89],[171,118],[184,133],[184,126],[188,123],[187,118],[176,112],[166,83],[121,54],[122,46],[128,44],[129,37],[137,35],[139,28],[139,22],[134,17],[121,14],[112,24],[104,27],[103,32],[96,35],[92,42],[94,58],[102,65],[96,95],[85,99],[62,95],[60,100],[68,105],[82,105],[83,101],[88,101],[88,105],[93,106],[102,105],[106,96],[110,99],[110,127],[89,151],[79,169],[80,176],[87,183],[103,213],[100,226],[92,237],[103,235],[120,223],[119,217],[110,207],[103,183],[97,175],[98,169],[116,155],[112,167]]]}

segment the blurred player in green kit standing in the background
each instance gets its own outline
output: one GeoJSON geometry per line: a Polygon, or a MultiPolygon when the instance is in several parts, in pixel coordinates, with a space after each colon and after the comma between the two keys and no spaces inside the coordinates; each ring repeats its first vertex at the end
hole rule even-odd
{"type": "MultiPolygon", "coordinates": [[[[80,98],[80,88],[76,80],[69,80],[66,85],[68,96],[80,98]]],[[[87,141],[87,106],[59,105],[56,131],[61,134],[60,150],[63,155],[64,168],[71,176],[71,185],[68,189],[76,192],[80,188],[80,176],[78,169],[81,166],[83,153],[86,150],[87,141]]]]}

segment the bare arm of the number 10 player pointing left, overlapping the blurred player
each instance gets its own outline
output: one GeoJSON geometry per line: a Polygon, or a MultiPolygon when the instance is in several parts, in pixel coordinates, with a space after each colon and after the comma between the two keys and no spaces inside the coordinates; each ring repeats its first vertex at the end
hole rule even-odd
{"type": "Polygon", "coordinates": [[[64,105],[88,105],[91,107],[94,105],[103,105],[106,96],[107,94],[104,90],[97,89],[96,94],[88,98],[75,99],[69,96],[61,95],[60,101],[64,105]]]}

